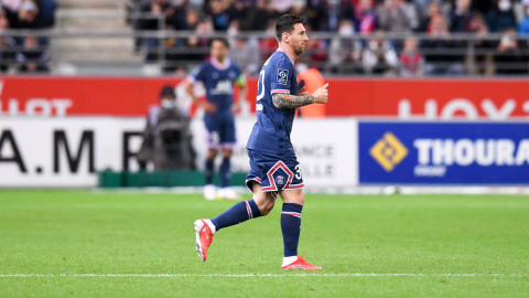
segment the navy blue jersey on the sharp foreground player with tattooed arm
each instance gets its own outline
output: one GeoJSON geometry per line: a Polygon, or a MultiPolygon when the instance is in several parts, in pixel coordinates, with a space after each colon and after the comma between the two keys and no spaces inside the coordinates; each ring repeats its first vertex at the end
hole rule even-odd
{"type": "Polygon", "coordinates": [[[294,62],[279,49],[264,63],[259,73],[257,91],[257,123],[251,130],[247,148],[279,156],[291,156],[290,141],[295,109],[277,108],[272,94],[298,94],[294,62]]]}

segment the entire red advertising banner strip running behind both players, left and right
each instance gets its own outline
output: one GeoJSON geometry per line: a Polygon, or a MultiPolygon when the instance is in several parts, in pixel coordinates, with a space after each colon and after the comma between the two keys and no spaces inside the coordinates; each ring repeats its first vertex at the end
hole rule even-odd
{"type": "MultiPolygon", "coordinates": [[[[0,115],[142,116],[183,78],[0,77],[0,115]]],[[[327,116],[508,119],[529,116],[529,79],[328,78],[327,116]]],[[[250,103],[257,78],[249,79],[250,103]]],[[[253,106],[253,105],[252,105],[253,106]]]]}

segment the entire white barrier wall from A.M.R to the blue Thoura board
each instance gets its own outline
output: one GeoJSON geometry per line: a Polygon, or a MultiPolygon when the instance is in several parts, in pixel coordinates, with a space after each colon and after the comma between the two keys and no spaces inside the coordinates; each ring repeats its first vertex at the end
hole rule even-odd
{"type": "MultiPolygon", "coordinates": [[[[249,169],[245,147],[253,123],[255,118],[237,120],[234,171],[249,169]]],[[[138,151],[144,126],[144,118],[4,117],[0,120],[0,187],[95,187],[97,171],[138,170],[128,157],[138,151]]],[[[202,168],[207,150],[202,119],[193,120],[192,130],[202,168]]],[[[357,185],[357,138],[354,119],[296,119],[292,142],[305,184],[357,185]]]]}

